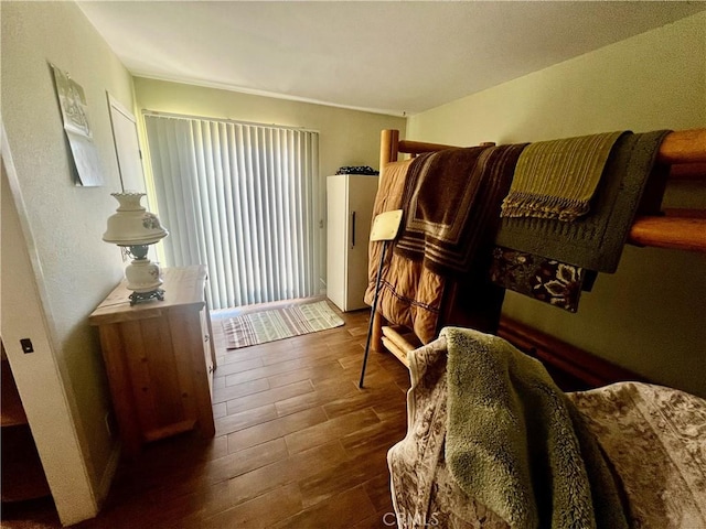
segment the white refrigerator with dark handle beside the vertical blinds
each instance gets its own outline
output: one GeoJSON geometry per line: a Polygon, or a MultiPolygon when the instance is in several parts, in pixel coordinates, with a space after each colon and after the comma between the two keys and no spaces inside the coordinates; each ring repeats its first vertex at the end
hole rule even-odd
{"type": "Polygon", "coordinates": [[[343,312],[365,309],[367,246],[377,176],[327,179],[327,295],[343,312]]]}

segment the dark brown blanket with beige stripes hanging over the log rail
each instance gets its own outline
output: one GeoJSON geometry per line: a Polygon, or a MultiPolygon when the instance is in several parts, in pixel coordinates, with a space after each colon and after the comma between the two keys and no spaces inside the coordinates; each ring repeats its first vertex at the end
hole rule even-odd
{"type": "Polygon", "coordinates": [[[500,205],[525,144],[446,149],[410,164],[395,252],[440,274],[467,273],[492,241],[500,205]]]}

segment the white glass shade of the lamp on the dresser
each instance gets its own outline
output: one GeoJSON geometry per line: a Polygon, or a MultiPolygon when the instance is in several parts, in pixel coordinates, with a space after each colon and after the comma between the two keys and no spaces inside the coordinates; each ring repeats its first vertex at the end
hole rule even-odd
{"type": "Polygon", "coordinates": [[[111,193],[120,203],[108,217],[103,240],[118,246],[153,245],[169,235],[153,213],[140,204],[145,193],[111,193]]]}

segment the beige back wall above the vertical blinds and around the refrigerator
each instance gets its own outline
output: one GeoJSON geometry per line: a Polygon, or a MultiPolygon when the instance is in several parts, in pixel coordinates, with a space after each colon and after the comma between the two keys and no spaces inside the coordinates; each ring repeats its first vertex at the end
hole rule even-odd
{"type": "MultiPolygon", "coordinates": [[[[257,123],[302,127],[319,132],[320,210],[325,212],[325,177],[343,165],[379,169],[382,129],[405,131],[405,119],[308,102],[272,99],[215,88],[135,78],[141,110],[226,118],[257,123]]],[[[138,119],[140,117],[138,116],[138,119]]],[[[325,274],[325,231],[321,230],[320,270],[325,274]]],[[[325,281],[325,278],[322,278],[325,281]]]]}

